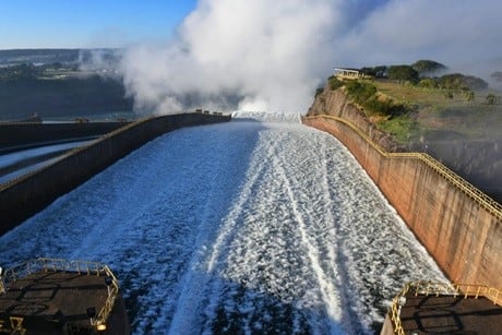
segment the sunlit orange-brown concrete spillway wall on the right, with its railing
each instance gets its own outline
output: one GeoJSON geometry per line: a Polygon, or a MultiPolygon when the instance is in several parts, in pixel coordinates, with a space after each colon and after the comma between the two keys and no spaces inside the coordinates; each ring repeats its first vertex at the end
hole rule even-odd
{"type": "Polygon", "coordinates": [[[499,203],[427,154],[383,151],[343,118],[303,123],[344,143],[452,282],[502,288],[499,203]]]}

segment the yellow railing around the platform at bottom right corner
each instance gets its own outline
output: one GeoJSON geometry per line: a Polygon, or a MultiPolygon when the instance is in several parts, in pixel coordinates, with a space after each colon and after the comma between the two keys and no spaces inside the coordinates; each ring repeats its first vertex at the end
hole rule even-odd
{"type": "Polygon", "coordinates": [[[403,289],[392,299],[392,304],[389,308],[389,314],[394,328],[394,334],[404,335],[405,331],[401,322],[401,309],[405,304],[405,296],[410,292],[417,296],[452,296],[464,297],[467,299],[474,297],[485,297],[493,302],[493,304],[502,306],[502,290],[485,285],[474,284],[449,284],[433,282],[411,282],[406,284],[403,289]]]}

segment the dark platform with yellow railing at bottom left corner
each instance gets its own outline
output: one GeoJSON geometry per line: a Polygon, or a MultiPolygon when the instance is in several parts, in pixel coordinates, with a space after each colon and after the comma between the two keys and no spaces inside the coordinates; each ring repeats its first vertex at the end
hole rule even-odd
{"type": "Polygon", "coordinates": [[[50,334],[72,334],[74,331],[95,334],[111,325],[118,328],[115,334],[129,334],[129,325],[125,325],[129,322],[124,316],[122,324],[120,313],[123,311],[120,303],[116,303],[119,300],[118,279],[105,264],[40,258],[7,270],[1,283],[0,333],[24,334],[29,328],[27,333],[32,334],[43,328],[50,334]],[[32,306],[36,301],[34,298],[19,299],[38,296],[49,298],[36,313],[32,306]],[[82,316],[81,311],[85,312],[87,306],[91,306],[87,318],[82,316]]]}

